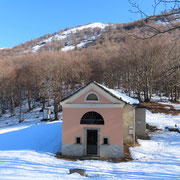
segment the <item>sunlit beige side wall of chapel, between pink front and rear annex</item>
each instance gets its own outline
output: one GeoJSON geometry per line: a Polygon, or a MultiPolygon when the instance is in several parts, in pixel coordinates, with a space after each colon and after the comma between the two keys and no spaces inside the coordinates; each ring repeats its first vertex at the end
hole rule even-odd
{"type": "Polygon", "coordinates": [[[123,108],[123,140],[125,144],[135,144],[135,108],[128,104],[123,108]],[[133,126],[133,134],[129,134],[129,126],[133,126]]]}

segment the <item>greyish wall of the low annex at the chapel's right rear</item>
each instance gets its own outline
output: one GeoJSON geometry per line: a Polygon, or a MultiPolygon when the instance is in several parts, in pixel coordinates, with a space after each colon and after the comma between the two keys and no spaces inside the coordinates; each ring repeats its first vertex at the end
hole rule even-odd
{"type": "Polygon", "coordinates": [[[146,137],[146,108],[136,108],[136,137],[146,137]]]}

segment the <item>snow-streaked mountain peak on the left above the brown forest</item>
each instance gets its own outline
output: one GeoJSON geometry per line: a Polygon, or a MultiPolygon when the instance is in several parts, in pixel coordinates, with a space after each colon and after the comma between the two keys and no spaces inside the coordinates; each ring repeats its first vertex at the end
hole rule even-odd
{"type": "Polygon", "coordinates": [[[68,51],[75,48],[83,48],[92,44],[106,31],[108,24],[91,23],[76,28],[66,28],[53,34],[46,34],[43,37],[17,45],[13,48],[0,49],[0,58],[5,56],[19,55],[39,51],[68,51]]]}

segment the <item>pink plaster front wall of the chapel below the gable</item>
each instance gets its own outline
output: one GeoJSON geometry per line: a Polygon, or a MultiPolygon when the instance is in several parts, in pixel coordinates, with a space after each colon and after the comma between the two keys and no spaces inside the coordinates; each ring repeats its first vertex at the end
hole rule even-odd
{"type": "MultiPolygon", "coordinates": [[[[79,98],[79,100],[82,100],[82,98],[79,98]]],[[[80,103],[78,102],[78,104],[80,103]]],[[[100,128],[100,144],[103,143],[103,136],[110,137],[110,144],[123,144],[122,108],[63,108],[63,144],[74,144],[75,136],[81,136],[82,143],[84,143],[85,127],[100,128]],[[96,111],[101,114],[104,118],[104,125],[81,125],[80,120],[88,111],[96,111]]]]}

